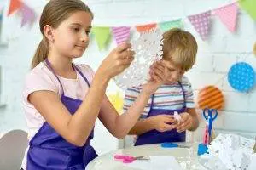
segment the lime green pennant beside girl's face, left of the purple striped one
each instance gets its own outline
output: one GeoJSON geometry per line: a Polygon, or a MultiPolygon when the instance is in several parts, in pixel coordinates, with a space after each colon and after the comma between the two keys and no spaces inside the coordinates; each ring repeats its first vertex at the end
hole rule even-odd
{"type": "Polygon", "coordinates": [[[100,50],[107,45],[109,37],[110,37],[110,28],[109,27],[102,27],[96,26],[92,27],[92,32],[96,37],[96,42],[100,50]]]}

